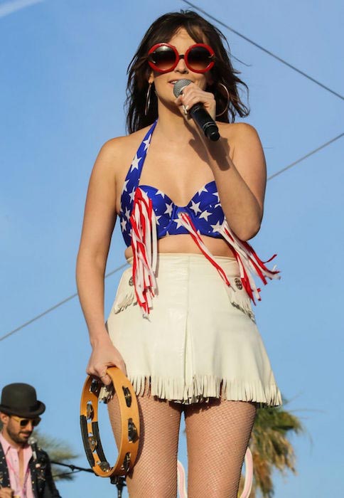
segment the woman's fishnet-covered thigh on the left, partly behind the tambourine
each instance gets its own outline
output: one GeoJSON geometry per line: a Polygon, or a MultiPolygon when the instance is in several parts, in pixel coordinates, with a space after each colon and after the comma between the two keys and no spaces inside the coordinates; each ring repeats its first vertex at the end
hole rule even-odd
{"type": "MultiPolygon", "coordinates": [[[[181,406],[150,396],[138,396],[140,441],[136,464],[127,476],[130,498],[176,498],[178,435],[181,406]]],[[[119,442],[119,408],[109,402],[109,417],[119,442]]]]}

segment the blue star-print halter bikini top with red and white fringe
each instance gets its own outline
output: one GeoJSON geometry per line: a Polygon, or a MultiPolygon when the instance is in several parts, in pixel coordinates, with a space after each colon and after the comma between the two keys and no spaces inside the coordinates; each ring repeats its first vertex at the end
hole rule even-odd
{"type": "Polygon", "coordinates": [[[147,132],[131,162],[124,181],[119,211],[124,242],[127,246],[131,245],[133,250],[134,289],[144,317],[153,306],[156,291],[157,240],[166,235],[188,233],[205,258],[215,266],[226,285],[231,285],[225,271],[215,261],[200,235],[223,238],[237,259],[244,289],[253,302],[254,298],[260,300],[260,289],[255,285],[252,275],[260,277],[266,284],[267,278],[279,277],[279,272],[269,270],[252,247],[231,231],[222,211],[215,181],[205,184],[186,206],[176,206],[171,198],[153,186],[139,186],[156,123],[157,121],[147,132]]]}

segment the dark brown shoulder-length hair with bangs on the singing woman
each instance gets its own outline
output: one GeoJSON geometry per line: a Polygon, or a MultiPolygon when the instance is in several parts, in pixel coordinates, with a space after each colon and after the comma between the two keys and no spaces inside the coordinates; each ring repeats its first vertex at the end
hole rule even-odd
{"type": "Polygon", "coordinates": [[[147,53],[156,43],[170,41],[179,28],[185,28],[196,43],[208,43],[215,51],[215,65],[210,70],[214,83],[208,85],[205,90],[215,95],[217,114],[225,110],[227,105],[227,94],[219,83],[225,85],[230,95],[227,112],[219,116],[218,121],[234,122],[235,115],[243,117],[249,114],[249,109],[240,100],[238,92],[238,85],[243,85],[248,91],[247,85],[237,77],[239,71],[235,70],[230,62],[230,48],[225,36],[213,24],[193,11],[171,12],[154,21],[129,64],[126,100],[129,133],[148,126],[158,117],[158,100],[154,91],[151,91],[151,102],[145,115],[148,79],[151,73],[147,53]]]}

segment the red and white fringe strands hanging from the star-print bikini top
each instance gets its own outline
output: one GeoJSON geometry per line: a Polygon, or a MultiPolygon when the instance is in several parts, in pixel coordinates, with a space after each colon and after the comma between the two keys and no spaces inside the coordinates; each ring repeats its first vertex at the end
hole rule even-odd
{"type": "MultiPolygon", "coordinates": [[[[210,250],[207,248],[200,233],[196,230],[190,216],[187,213],[178,213],[178,218],[184,228],[190,233],[191,237],[198,245],[201,253],[216,268],[220,277],[226,285],[230,286],[225,271],[217,263],[210,250]]],[[[156,261],[158,257],[157,235],[156,235],[156,216],[152,207],[151,199],[141,189],[136,189],[134,196],[133,211],[130,216],[131,223],[131,248],[134,255],[133,263],[133,280],[137,302],[143,310],[144,317],[149,315],[149,309],[152,307],[152,299],[156,291],[156,261]]],[[[276,254],[268,261],[263,262],[259,259],[257,253],[251,245],[244,240],[237,238],[234,232],[228,226],[225,220],[218,231],[226,240],[232,252],[235,255],[240,268],[240,280],[244,290],[249,298],[254,302],[255,299],[260,301],[260,288],[254,282],[254,276],[262,280],[264,285],[267,279],[279,278],[279,271],[276,267],[272,270],[265,263],[272,261],[276,254]]]]}

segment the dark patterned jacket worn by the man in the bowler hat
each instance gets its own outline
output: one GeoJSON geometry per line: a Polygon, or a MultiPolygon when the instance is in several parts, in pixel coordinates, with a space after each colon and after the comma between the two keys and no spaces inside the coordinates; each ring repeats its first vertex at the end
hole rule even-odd
{"type": "MultiPolygon", "coordinates": [[[[51,474],[48,453],[38,448],[37,460],[31,457],[28,463],[31,471],[31,485],[35,498],[61,498],[55,487],[53,475],[51,474]]],[[[9,470],[7,469],[6,457],[0,444],[0,486],[10,487],[9,470]]]]}

